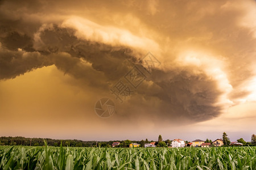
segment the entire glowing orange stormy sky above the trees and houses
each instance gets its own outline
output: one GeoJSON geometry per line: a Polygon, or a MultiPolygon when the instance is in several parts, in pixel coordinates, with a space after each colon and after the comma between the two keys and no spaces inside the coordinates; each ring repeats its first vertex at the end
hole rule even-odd
{"type": "Polygon", "coordinates": [[[253,0],[0,1],[0,136],[250,141],[255,47],[253,0]],[[121,103],[110,89],[148,52],[121,103]]]}

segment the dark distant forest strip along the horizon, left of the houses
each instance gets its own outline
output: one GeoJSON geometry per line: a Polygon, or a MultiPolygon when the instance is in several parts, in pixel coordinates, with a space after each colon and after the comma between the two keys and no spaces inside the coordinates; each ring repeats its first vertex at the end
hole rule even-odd
{"type": "Polygon", "coordinates": [[[153,141],[81,141],[76,139],[50,139],[50,138],[25,138],[25,137],[0,137],[0,145],[22,145],[22,146],[44,146],[44,140],[49,146],[60,146],[62,141],[63,146],[71,147],[112,147],[113,142],[120,142],[116,147],[129,147],[130,143],[138,143],[144,146],[144,143],[153,141]]]}

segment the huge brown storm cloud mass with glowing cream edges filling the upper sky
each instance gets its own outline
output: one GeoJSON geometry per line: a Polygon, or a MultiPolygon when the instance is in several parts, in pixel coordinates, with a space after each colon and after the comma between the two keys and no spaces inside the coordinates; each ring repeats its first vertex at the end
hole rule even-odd
{"type": "Polygon", "coordinates": [[[1,1],[0,79],[54,65],[76,79],[72,86],[90,87],[93,101],[113,99],[116,124],[210,120],[253,93],[250,6],[255,1],[1,1]],[[151,73],[142,61],[148,52],[160,62],[151,73]],[[110,89],[134,66],[146,78],[121,104],[110,89]]]}

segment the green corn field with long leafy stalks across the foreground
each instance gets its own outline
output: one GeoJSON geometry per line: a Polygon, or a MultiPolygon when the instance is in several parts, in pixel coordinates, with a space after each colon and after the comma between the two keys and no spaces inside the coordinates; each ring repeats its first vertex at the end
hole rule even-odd
{"type": "Polygon", "coordinates": [[[0,169],[256,169],[256,147],[0,146],[0,169]]]}

